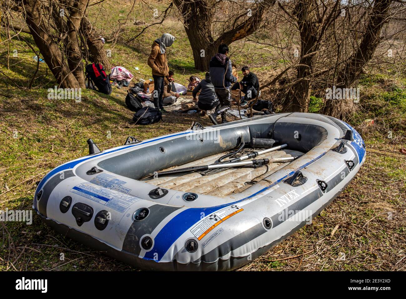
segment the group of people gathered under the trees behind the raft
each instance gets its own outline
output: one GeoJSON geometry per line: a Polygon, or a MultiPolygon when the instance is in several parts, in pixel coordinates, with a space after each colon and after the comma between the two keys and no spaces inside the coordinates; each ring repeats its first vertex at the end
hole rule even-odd
{"type": "MultiPolygon", "coordinates": [[[[163,113],[167,112],[163,105],[174,103],[179,97],[173,84],[173,71],[169,70],[166,59],[166,48],[170,47],[174,41],[175,37],[164,33],[160,39],[153,42],[148,59],[154,80],[152,95],[154,105],[163,113]]],[[[210,60],[209,72],[205,74],[205,79],[200,81],[195,76],[189,78],[188,88],[194,87],[193,100],[197,101],[199,109],[203,111],[215,109],[215,112],[209,115],[209,119],[214,124],[218,124],[219,115],[221,115],[222,123],[227,122],[226,111],[231,108],[231,90],[240,89],[244,92],[245,96],[240,101],[242,106],[256,98],[259,92],[258,78],[248,66],[242,68],[244,77],[238,82],[238,76],[233,75],[233,67],[228,54],[229,47],[221,44],[218,47],[218,53],[210,60]],[[199,92],[199,98],[197,98],[199,92]]]]}

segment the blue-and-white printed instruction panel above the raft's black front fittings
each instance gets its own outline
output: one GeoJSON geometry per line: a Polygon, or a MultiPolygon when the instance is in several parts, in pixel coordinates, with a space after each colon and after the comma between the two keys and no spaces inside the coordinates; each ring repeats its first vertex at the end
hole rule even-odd
{"type": "Polygon", "coordinates": [[[71,192],[101,203],[120,213],[124,213],[130,205],[142,200],[136,196],[123,194],[114,190],[106,190],[103,187],[94,186],[90,183],[81,183],[73,187],[71,192]]]}

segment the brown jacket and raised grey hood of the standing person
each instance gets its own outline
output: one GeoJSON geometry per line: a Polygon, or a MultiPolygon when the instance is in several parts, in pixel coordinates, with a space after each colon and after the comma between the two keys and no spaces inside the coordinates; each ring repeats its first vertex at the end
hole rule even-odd
{"type": "Polygon", "coordinates": [[[169,33],[164,33],[161,38],[155,39],[152,43],[151,54],[148,57],[148,65],[152,69],[152,74],[166,76],[169,72],[168,61],[166,59],[166,48],[172,46],[175,37],[169,33]]]}

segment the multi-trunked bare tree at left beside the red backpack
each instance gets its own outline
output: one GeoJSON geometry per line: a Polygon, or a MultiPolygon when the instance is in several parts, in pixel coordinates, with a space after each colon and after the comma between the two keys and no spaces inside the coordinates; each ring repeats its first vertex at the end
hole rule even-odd
{"type": "MultiPolygon", "coordinates": [[[[2,4],[7,20],[24,20],[28,30],[20,28],[20,32],[32,35],[61,87],[85,87],[82,53],[83,50],[88,51],[87,47],[93,58],[108,63],[102,41],[94,38],[95,33],[87,20],[85,12],[88,5],[89,0],[6,0],[2,4]]],[[[13,22],[7,22],[4,26],[15,32],[19,30],[19,26],[14,26],[13,22]]]]}

